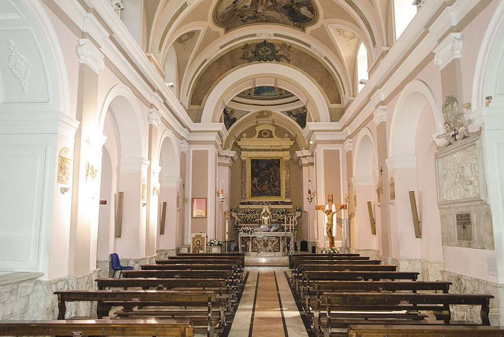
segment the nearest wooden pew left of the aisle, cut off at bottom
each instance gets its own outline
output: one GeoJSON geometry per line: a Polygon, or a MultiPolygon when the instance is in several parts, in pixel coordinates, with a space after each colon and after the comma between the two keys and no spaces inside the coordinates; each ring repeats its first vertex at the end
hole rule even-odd
{"type": "Polygon", "coordinates": [[[191,319],[89,319],[0,321],[0,335],[193,336],[191,319]]]}

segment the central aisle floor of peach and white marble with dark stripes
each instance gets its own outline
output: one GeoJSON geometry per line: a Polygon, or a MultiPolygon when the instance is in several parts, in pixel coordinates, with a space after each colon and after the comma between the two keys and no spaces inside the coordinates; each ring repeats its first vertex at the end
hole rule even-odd
{"type": "Polygon", "coordinates": [[[308,336],[283,271],[250,271],[229,337],[308,336]]]}

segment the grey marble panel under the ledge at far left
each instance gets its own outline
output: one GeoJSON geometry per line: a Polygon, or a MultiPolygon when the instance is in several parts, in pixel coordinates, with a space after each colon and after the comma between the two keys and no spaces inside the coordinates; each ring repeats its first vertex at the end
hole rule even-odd
{"type": "Polygon", "coordinates": [[[28,319],[28,302],[43,273],[0,275],[0,320],[28,319]]]}

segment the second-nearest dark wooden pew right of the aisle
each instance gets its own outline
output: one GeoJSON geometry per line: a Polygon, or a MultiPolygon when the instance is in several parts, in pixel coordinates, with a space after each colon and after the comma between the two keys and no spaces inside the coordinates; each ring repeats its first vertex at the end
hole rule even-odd
{"type": "Polygon", "coordinates": [[[488,319],[489,301],[492,295],[444,294],[444,293],[342,293],[323,292],[316,318],[329,337],[333,328],[348,328],[350,324],[474,324],[475,322],[451,322],[450,305],[479,305],[483,325],[488,319]],[[321,308],[326,305],[326,310],[321,308]],[[349,312],[351,311],[351,312],[349,312]],[[406,311],[394,313],[392,311],[406,311]],[[415,317],[415,312],[432,311],[435,321],[422,321],[425,316],[415,317]],[[384,313],[385,312],[385,313],[384,313]],[[389,313],[387,313],[389,312],[389,313]],[[388,320],[380,319],[385,317],[388,320]],[[378,319],[376,319],[378,317],[378,319]],[[390,319],[397,317],[397,319],[390,319]]]}

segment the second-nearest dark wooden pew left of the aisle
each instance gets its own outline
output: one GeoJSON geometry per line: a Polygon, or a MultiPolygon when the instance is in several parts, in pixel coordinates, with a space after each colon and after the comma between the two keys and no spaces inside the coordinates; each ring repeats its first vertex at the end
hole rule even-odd
{"type": "MultiPolygon", "coordinates": [[[[210,290],[66,290],[54,292],[58,297],[58,319],[65,319],[67,302],[88,301],[98,302],[96,313],[98,318],[108,316],[114,306],[122,306],[125,316],[136,313],[135,307],[170,306],[170,307],[205,307],[203,311],[187,311],[169,309],[165,312],[173,318],[190,317],[196,331],[204,326],[208,337],[214,336],[216,327],[223,328],[225,323],[224,307],[216,291],[210,290]],[[215,308],[215,309],[214,309],[215,308]],[[216,314],[216,311],[218,312],[216,314]]],[[[139,312],[141,310],[138,310],[139,312]]],[[[151,315],[148,315],[151,316],[151,315]]]]}

